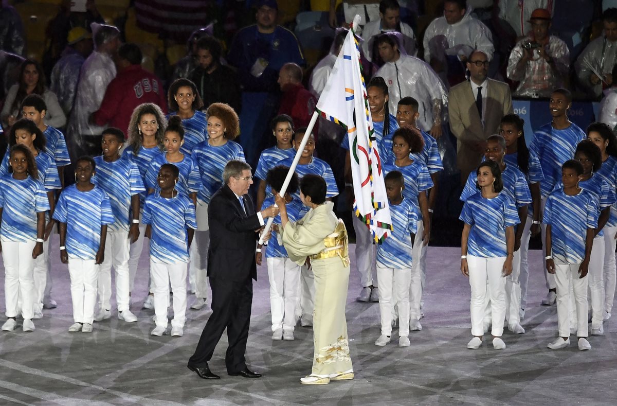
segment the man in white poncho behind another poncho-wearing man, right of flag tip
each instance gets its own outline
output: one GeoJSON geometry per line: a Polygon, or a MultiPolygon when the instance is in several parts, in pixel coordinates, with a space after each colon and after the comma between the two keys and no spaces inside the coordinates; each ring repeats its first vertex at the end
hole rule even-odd
{"type": "Polygon", "coordinates": [[[379,2],[379,19],[366,23],[362,30],[362,51],[366,59],[375,62],[379,66],[383,61],[379,58],[375,39],[379,34],[387,32],[399,32],[402,34],[403,44],[407,55],[416,56],[416,36],[412,27],[400,21],[400,6],[397,0],[381,0],[379,2]]]}

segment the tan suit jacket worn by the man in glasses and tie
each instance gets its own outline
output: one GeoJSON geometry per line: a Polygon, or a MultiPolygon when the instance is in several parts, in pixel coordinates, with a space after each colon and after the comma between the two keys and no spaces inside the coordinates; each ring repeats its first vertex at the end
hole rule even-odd
{"type": "Polygon", "coordinates": [[[513,112],[510,87],[497,80],[488,79],[486,99],[482,102],[486,103],[484,126],[469,81],[450,89],[450,130],[457,138],[457,166],[462,172],[471,172],[482,162],[484,154],[474,151],[474,144],[499,134],[502,117],[513,112]]]}

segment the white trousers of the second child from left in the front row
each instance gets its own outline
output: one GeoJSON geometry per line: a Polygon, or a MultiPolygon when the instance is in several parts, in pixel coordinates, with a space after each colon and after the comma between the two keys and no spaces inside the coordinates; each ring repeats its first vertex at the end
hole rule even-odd
{"type": "Polygon", "coordinates": [[[71,300],[75,323],[94,321],[96,303],[96,281],[99,265],[93,259],[68,258],[68,275],[71,278],[71,300]]]}

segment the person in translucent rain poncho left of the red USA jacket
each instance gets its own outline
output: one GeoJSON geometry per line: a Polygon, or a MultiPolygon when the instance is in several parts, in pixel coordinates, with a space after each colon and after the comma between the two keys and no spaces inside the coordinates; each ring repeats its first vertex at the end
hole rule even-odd
{"type": "Polygon", "coordinates": [[[92,24],[94,52],[81,67],[75,106],[67,129],[69,151],[74,157],[101,154],[103,128],[89,123],[90,115],[101,107],[107,85],[116,75],[112,56],[120,46],[120,31],[112,25],[92,24]]]}

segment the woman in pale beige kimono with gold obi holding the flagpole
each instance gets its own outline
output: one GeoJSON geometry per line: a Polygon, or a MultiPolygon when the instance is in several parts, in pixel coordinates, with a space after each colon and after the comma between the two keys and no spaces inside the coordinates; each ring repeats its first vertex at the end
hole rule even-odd
{"type": "Polygon", "coordinates": [[[299,222],[290,222],[285,201],[278,194],[280,235],[289,258],[304,265],[307,257],[315,275],[313,313],[313,370],[300,383],[323,385],[331,380],[354,379],[345,304],[349,284],[347,231],[336,218],[333,203],[326,201],[326,181],[317,175],[305,175],[300,181],[300,199],[310,208],[299,222]]]}

